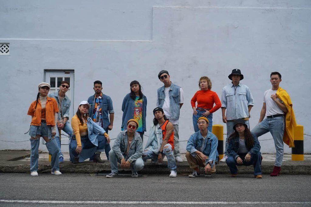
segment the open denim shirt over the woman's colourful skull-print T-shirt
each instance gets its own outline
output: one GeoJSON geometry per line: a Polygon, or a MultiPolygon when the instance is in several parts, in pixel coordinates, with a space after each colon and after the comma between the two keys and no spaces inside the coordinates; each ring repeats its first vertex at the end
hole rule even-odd
{"type": "MultiPolygon", "coordinates": [[[[126,124],[129,119],[133,119],[134,117],[134,102],[130,97],[130,94],[128,93],[122,103],[122,111],[123,111],[123,116],[122,116],[122,125],[121,125],[121,130],[123,131],[126,129],[126,124]]],[[[142,131],[146,132],[146,110],[147,110],[147,98],[145,95],[142,96],[142,131]]]]}

